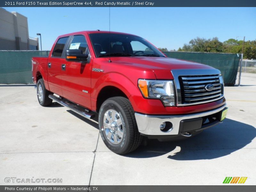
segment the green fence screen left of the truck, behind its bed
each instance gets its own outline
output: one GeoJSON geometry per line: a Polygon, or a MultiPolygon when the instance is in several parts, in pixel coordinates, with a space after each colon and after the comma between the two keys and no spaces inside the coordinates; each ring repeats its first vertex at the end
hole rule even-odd
{"type": "Polygon", "coordinates": [[[0,84],[30,84],[31,58],[48,56],[49,51],[0,51],[0,84]]]}

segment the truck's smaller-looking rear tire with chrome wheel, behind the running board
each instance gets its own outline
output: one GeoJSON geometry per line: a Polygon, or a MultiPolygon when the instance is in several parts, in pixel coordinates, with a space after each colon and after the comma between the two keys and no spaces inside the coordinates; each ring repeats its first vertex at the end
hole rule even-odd
{"type": "Polygon", "coordinates": [[[37,99],[41,106],[46,107],[52,104],[52,100],[48,97],[52,92],[45,89],[44,80],[39,79],[36,85],[37,99]]]}

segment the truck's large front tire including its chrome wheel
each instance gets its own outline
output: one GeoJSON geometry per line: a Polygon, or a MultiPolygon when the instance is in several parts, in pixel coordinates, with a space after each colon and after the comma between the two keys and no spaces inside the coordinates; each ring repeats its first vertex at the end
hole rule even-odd
{"type": "Polygon", "coordinates": [[[100,107],[99,129],[106,146],[116,154],[126,154],[140,146],[140,135],[130,101],[124,97],[107,99],[100,107]]]}

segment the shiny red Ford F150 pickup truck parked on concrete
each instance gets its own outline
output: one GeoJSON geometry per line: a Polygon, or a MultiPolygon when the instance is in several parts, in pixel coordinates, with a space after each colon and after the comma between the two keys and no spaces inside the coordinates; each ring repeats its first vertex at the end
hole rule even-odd
{"type": "Polygon", "coordinates": [[[86,118],[98,115],[100,135],[117,154],[142,137],[188,138],[226,116],[218,69],[167,58],[126,33],[82,31],[59,36],[48,57],[32,58],[40,105],[56,101],[86,118]]]}

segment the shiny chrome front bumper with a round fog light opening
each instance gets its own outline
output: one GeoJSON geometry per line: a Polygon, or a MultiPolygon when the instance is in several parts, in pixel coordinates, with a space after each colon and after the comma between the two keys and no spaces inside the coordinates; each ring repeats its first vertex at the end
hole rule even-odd
{"type": "Polygon", "coordinates": [[[189,115],[145,115],[135,113],[136,122],[138,125],[139,132],[144,135],[178,135],[180,129],[180,121],[185,119],[192,119],[197,117],[204,117],[220,112],[226,107],[226,104],[220,108],[213,109],[211,111],[189,114],[189,115]],[[171,122],[172,129],[168,132],[160,130],[160,125],[163,122],[171,122]]]}

